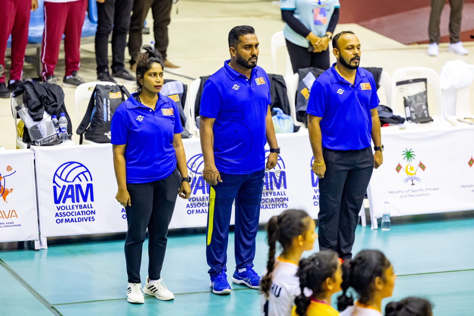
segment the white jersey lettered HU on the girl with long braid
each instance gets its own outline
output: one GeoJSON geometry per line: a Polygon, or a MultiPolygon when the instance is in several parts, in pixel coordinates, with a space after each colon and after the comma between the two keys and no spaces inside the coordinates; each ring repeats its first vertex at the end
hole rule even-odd
{"type": "MultiPolygon", "coordinates": [[[[295,262],[275,259],[272,271],[272,286],[268,297],[260,295],[261,316],[290,316],[294,299],[300,295],[300,279],[296,276],[298,265],[295,262]]],[[[265,269],[262,275],[267,274],[265,269]]]]}

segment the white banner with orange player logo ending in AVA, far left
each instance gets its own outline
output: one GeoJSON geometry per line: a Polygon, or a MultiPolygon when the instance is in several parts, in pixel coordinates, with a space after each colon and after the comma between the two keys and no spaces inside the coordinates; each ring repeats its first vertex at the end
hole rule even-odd
{"type": "Polygon", "coordinates": [[[33,153],[0,151],[0,242],[38,240],[33,153]]]}

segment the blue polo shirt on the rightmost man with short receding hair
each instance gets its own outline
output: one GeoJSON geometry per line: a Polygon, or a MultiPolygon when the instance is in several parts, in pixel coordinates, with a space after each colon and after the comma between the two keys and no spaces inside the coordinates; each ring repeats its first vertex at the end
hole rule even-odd
{"type": "Polygon", "coordinates": [[[323,72],[310,91],[306,113],[322,117],[322,146],[332,150],[359,150],[370,146],[372,115],[379,105],[374,76],[357,68],[354,85],[334,68],[323,72]]]}

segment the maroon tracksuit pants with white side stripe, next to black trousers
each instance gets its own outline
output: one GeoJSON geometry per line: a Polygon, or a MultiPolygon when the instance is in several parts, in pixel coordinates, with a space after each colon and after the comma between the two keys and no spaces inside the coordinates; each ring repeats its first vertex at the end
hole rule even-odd
{"type": "Polygon", "coordinates": [[[59,45],[64,34],[66,76],[79,70],[81,63],[81,31],[84,24],[87,0],[72,2],[45,1],[45,30],[41,42],[43,80],[54,75],[59,57],[59,45]]]}

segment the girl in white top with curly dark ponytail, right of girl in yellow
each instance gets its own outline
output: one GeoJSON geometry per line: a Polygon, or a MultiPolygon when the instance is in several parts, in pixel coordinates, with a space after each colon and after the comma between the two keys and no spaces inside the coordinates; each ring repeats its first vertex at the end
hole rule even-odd
{"type": "Polygon", "coordinates": [[[343,264],[342,295],[337,298],[340,316],[383,316],[382,299],[392,296],[395,279],[393,267],[378,250],[363,250],[343,264]],[[356,290],[359,299],[354,303],[347,289],[356,290]]]}

